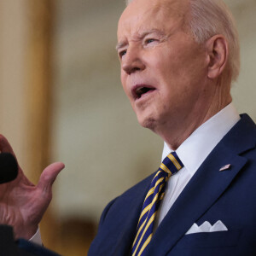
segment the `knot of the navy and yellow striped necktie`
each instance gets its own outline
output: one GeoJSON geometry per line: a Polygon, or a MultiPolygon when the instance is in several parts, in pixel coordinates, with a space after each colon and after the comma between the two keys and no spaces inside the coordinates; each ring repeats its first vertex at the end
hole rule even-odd
{"type": "Polygon", "coordinates": [[[178,158],[176,152],[172,152],[166,156],[162,161],[159,171],[164,171],[168,173],[168,177],[175,174],[183,167],[182,161],[178,158]]]}

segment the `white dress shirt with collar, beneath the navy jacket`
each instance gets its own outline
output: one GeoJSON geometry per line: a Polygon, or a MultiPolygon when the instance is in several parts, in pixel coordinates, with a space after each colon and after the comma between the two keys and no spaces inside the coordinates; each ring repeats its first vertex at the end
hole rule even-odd
{"type": "MultiPolygon", "coordinates": [[[[195,174],[202,162],[212,152],[212,149],[221,139],[236,125],[240,116],[233,103],[223,108],[211,119],[198,127],[180,146],[176,153],[183,162],[183,168],[169,178],[166,184],[166,192],[161,202],[159,211],[155,219],[154,230],[160,225],[166,213],[170,210],[173,203],[177,200],[184,187],[189,183],[190,178],[195,174]]],[[[165,143],[162,160],[167,154],[172,152],[165,143]]]]}

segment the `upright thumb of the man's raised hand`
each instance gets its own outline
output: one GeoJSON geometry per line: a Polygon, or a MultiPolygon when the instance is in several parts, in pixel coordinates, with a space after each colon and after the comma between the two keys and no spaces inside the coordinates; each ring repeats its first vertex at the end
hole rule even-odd
{"type": "Polygon", "coordinates": [[[55,182],[56,177],[64,167],[65,165],[61,162],[56,162],[47,166],[39,179],[38,189],[49,192],[51,190],[52,184],[55,182]]]}

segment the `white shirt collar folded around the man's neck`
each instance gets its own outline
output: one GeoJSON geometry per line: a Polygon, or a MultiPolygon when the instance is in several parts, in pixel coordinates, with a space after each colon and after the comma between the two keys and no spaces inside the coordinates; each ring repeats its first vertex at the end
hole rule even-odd
{"type": "MultiPolygon", "coordinates": [[[[239,120],[240,116],[231,102],[198,127],[176,150],[184,167],[194,174],[212,149],[239,120]]],[[[172,151],[165,143],[162,160],[172,151]]]]}

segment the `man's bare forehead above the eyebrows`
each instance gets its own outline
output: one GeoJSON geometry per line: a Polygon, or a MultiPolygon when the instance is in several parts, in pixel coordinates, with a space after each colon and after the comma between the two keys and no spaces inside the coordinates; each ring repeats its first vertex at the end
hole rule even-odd
{"type": "Polygon", "coordinates": [[[132,0],[119,19],[118,37],[124,29],[180,23],[188,11],[189,0],[132,0]]]}

